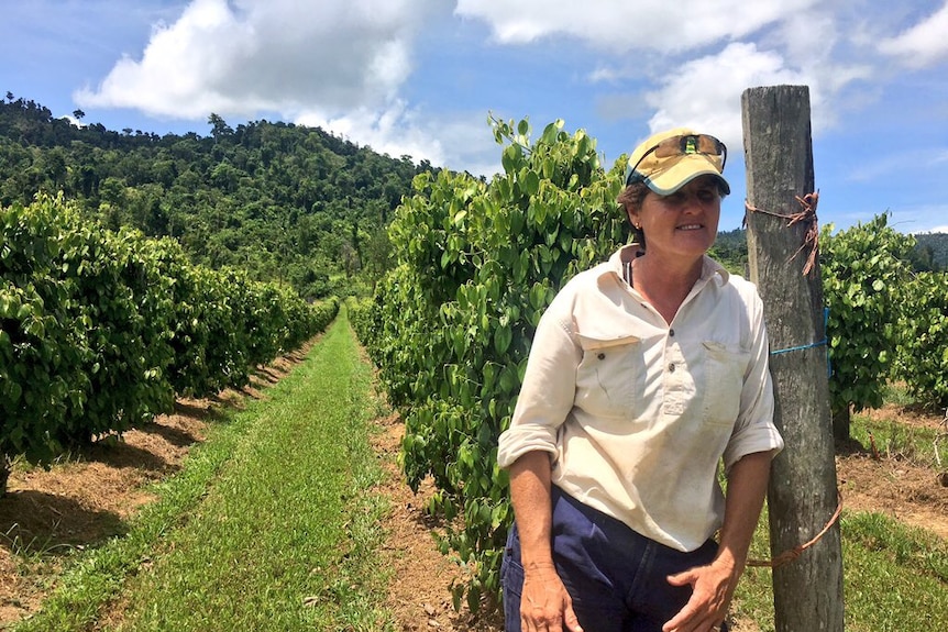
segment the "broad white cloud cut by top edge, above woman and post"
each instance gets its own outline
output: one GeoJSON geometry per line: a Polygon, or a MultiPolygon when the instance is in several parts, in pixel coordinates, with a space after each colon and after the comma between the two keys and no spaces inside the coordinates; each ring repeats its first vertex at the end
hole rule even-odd
{"type": "Polygon", "coordinates": [[[688,51],[746,36],[816,0],[458,0],[455,14],[490,25],[494,37],[526,44],[552,35],[611,51],[688,51]]]}

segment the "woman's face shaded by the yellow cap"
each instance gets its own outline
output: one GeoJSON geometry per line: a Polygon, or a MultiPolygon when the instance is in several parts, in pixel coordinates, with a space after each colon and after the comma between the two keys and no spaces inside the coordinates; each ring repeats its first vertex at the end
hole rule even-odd
{"type": "Polygon", "coordinates": [[[641,226],[648,253],[697,258],[717,236],[720,191],[713,176],[702,176],[671,196],[649,191],[629,215],[641,226]]]}

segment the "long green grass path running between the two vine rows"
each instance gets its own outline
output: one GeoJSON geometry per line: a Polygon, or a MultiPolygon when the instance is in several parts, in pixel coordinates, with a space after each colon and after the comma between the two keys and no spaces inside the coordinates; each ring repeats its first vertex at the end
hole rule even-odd
{"type": "Polygon", "coordinates": [[[16,628],[353,630],[393,623],[374,561],[383,476],[367,440],[371,370],[343,313],[307,361],[216,426],[130,533],[66,574],[16,628]]]}

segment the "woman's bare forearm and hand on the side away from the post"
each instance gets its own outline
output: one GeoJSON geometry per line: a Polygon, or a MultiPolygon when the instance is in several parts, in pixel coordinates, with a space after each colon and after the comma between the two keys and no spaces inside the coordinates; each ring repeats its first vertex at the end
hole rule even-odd
{"type": "Polygon", "coordinates": [[[553,565],[550,475],[548,452],[528,452],[510,466],[510,501],[523,565],[520,621],[523,632],[583,632],[573,600],[553,565]]]}

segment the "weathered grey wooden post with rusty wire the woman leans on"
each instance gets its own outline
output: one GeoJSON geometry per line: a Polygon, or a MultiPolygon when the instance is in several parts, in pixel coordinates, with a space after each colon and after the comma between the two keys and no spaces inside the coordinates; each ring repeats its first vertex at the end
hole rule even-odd
{"type": "MultiPolygon", "coordinates": [[[[771,469],[771,552],[804,545],[837,509],[827,348],[819,265],[804,274],[816,215],[809,90],[751,88],[741,96],[747,164],[750,278],[764,304],[770,335],[775,422],[786,444],[771,469]],[[783,215],[783,217],[778,217],[783,215]]],[[[796,559],[773,570],[776,632],[842,630],[842,547],[834,524],[796,559]]]]}

